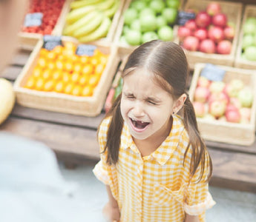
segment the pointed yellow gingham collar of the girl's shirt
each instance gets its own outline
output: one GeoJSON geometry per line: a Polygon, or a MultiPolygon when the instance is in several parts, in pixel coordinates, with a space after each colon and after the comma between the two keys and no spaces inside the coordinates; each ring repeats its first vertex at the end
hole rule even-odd
{"type": "MultiPolygon", "coordinates": [[[[164,165],[173,152],[177,149],[177,146],[180,141],[180,132],[184,129],[183,120],[178,115],[174,115],[173,123],[171,127],[171,132],[168,137],[163,141],[163,143],[158,147],[151,155],[160,165],[164,165]]],[[[139,153],[134,144],[134,140],[129,132],[128,125],[124,122],[124,127],[122,128],[121,135],[121,147],[120,149],[130,148],[133,152],[139,153]]]]}

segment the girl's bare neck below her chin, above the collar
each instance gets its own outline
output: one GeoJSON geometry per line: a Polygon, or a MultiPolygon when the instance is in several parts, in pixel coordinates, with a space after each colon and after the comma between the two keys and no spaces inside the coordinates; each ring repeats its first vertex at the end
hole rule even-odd
{"type": "Polygon", "coordinates": [[[168,137],[171,132],[173,118],[170,118],[169,121],[154,135],[146,138],[145,140],[138,140],[134,138],[134,143],[136,144],[137,148],[140,150],[140,153],[143,156],[151,155],[161,144],[163,141],[168,137]]]}

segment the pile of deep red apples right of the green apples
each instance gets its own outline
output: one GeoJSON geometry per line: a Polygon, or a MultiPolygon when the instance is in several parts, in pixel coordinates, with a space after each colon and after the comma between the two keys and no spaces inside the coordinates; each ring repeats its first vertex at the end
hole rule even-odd
{"type": "Polygon", "coordinates": [[[219,3],[211,2],[206,10],[197,13],[195,19],[179,27],[177,35],[186,50],[230,54],[234,24],[228,23],[219,3]]]}

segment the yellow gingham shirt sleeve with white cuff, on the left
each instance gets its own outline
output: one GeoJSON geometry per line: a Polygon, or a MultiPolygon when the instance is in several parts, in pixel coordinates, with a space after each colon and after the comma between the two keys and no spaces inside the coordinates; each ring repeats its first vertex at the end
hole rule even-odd
{"type": "Polygon", "coordinates": [[[99,181],[109,185],[109,171],[110,166],[107,164],[108,150],[105,150],[105,145],[107,143],[107,132],[108,132],[109,119],[102,121],[102,124],[99,126],[98,142],[99,142],[99,152],[100,152],[100,161],[94,166],[93,173],[99,181]]]}

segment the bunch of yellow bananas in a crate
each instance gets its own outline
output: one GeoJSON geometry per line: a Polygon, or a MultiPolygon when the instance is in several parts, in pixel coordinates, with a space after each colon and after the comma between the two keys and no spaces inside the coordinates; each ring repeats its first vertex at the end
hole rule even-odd
{"type": "Polygon", "coordinates": [[[70,4],[70,12],[62,34],[73,36],[81,42],[94,41],[107,36],[111,19],[119,7],[119,0],[76,0],[70,4]]]}

